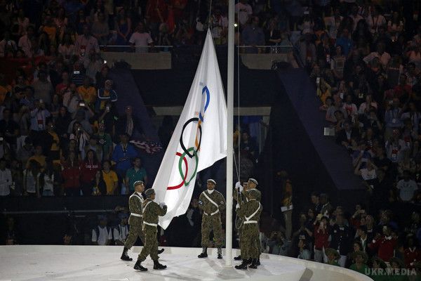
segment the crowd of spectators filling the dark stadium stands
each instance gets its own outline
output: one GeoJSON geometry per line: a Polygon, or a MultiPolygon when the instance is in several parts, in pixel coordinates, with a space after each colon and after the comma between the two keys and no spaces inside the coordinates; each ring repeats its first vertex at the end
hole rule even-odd
{"type": "MultiPolygon", "coordinates": [[[[206,1],[0,1],[0,195],[114,195],[130,192],[134,181],[147,183],[129,142],[142,135],[139,121],[130,106],[117,112],[119,93],[100,48],[200,45],[208,26],[215,44],[226,44],[226,3],[212,5],[208,18],[206,1]],[[11,71],[11,65],[18,67],[11,71]]],[[[390,210],[396,202],[420,206],[421,200],[418,11],[416,1],[236,4],[236,44],[297,46],[326,122],[367,189],[355,210],[333,207],[328,195],[314,192],[308,209],[293,207],[302,211],[299,221],[291,222],[290,214],[279,221],[263,216],[262,251],[361,273],[367,266],[420,273],[420,212],[401,221],[390,210]]],[[[258,155],[250,154],[249,136],[243,138],[241,155],[252,171],[258,155]]],[[[292,196],[285,177],[281,184],[292,196]]],[[[283,213],[292,210],[284,207],[283,213]]],[[[178,219],[190,229],[189,246],[197,244],[199,214],[194,198],[178,219]]],[[[126,215],[120,218],[108,229],[101,216],[83,243],[121,244],[126,215]]],[[[13,233],[13,219],[8,227],[13,233]]]]}

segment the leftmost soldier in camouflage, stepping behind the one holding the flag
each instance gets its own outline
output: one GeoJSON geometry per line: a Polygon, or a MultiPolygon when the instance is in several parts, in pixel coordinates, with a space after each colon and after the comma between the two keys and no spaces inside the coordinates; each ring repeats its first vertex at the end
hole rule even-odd
{"type": "Polygon", "coordinates": [[[128,198],[128,209],[131,212],[130,217],[128,218],[128,224],[130,230],[128,230],[128,236],[126,242],[124,243],[123,254],[121,254],[121,259],[123,261],[132,261],[133,259],[128,256],[127,251],[133,247],[138,237],[142,240],[142,243],[145,244],[145,235],[142,232],[142,203],[143,196],[142,192],[145,190],[145,185],[143,181],[135,181],[133,183],[135,192],[128,198]]]}

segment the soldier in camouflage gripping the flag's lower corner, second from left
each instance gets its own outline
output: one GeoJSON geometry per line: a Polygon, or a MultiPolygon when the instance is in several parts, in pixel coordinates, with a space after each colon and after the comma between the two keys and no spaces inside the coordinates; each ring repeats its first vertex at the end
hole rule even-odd
{"type": "Polygon", "coordinates": [[[146,271],[147,268],[142,266],[142,261],[145,261],[148,255],[151,256],[154,261],[154,269],[165,269],[166,266],[163,266],[159,263],[158,259],[158,240],[156,234],[158,233],[158,217],[166,214],[167,207],[165,204],[157,204],[155,200],[155,190],[149,188],[145,192],[146,200],[143,202],[143,224],[142,230],[145,233],[145,246],[143,246],[142,251],[138,256],[138,261],[135,263],[135,269],[146,271]]]}

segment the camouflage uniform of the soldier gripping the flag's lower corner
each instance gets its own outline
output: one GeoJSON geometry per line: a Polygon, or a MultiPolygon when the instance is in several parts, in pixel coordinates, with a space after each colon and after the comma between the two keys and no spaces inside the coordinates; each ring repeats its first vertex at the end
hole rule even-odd
{"type": "Polygon", "coordinates": [[[138,256],[138,261],[145,261],[148,255],[153,261],[158,261],[158,240],[156,238],[158,217],[166,214],[166,206],[161,207],[156,202],[147,198],[142,204],[143,207],[143,225],[142,230],[145,233],[145,246],[138,256]]]}

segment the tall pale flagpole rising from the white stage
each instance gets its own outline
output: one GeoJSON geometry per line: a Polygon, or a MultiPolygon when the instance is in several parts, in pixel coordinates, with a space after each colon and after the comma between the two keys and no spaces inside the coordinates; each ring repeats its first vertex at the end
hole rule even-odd
{"type": "Polygon", "coordinates": [[[225,266],[232,267],[232,152],[234,151],[234,0],[228,1],[227,118],[227,217],[225,220],[225,266]]]}

